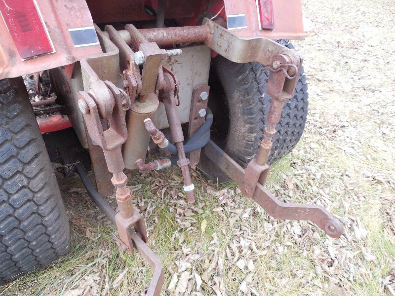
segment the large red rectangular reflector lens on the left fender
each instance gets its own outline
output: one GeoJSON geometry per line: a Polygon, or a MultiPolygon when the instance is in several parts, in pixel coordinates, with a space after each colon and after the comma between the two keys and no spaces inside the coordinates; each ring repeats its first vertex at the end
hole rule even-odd
{"type": "Polygon", "coordinates": [[[33,0],[2,0],[0,12],[22,59],[54,51],[33,0]]]}

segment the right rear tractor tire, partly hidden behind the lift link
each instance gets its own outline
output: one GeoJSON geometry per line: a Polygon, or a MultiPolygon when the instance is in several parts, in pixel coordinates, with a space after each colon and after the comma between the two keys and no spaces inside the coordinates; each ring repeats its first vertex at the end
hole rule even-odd
{"type": "MultiPolygon", "coordinates": [[[[287,40],[277,42],[294,48],[287,40]]],[[[214,79],[209,99],[214,114],[212,138],[244,168],[255,157],[267,124],[271,98],[266,93],[269,72],[263,72],[263,68],[259,63],[238,64],[222,56],[217,56],[212,64],[210,78],[214,79]]],[[[288,154],[299,142],[305,128],[308,104],[306,75],[302,67],[294,96],[284,104],[276,125],[269,164],[288,154]]],[[[210,177],[229,180],[203,153],[200,163],[199,167],[210,177]]]]}

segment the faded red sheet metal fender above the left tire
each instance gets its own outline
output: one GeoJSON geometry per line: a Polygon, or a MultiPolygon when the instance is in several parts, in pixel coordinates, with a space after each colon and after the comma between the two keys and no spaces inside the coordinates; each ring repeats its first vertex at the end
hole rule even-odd
{"type": "Polygon", "coordinates": [[[1,13],[8,14],[8,16],[0,18],[0,79],[69,65],[80,61],[84,57],[102,53],[98,42],[93,42],[93,44],[87,46],[76,46],[70,33],[76,32],[75,30],[79,28],[90,29],[81,31],[87,32],[87,34],[94,30],[92,17],[85,0],[1,0],[0,3],[1,13]],[[22,12],[29,11],[29,15],[26,18],[31,23],[36,21],[41,23],[42,20],[41,24],[44,24],[44,30],[46,29],[48,40],[52,41],[54,51],[50,54],[43,54],[49,49],[47,44],[42,43],[42,41],[45,41],[45,38],[40,39],[40,36],[43,37],[41,34],[42,30],[39,30],[40,34],[39,32],[33,32],[33,28],[39,28],[40,23],[35,23],[33,26],[30,24],[32,31],[30,33],[26,32],[28,37],[25,38],[30,40],[22,40],[21,42],[26,42],[25,44],[40,44],[41,49],[35,50],[35,53],[41,52],[41,54],[26,59],[29,54],[21,50],[22,47],[18,45],[18,42],[14,41],[14,38],[18,32],[16,30],[18,26],[19,30],[23,31],[28,29],[28,25],[23,17],[18,20],[18,15],[21,14],[11,14],[10,10],[14,9],[14,5],[17,9],[20,9],[16,5],[20,3],[31,5],[32,1],[35,3],[34,7],[29,6],[29,9],[22,12]],[[36,12],[40,18],[35,14],[36,12]],[[35,27],[36,25],[37,27],[35,27]],[[70,29],[72,31],[69,31],[70,29]]]}

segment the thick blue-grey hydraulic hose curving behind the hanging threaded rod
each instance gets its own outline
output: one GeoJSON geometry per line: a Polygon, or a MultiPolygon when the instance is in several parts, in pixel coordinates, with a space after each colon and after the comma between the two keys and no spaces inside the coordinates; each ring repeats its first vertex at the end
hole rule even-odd
{"type": "MultiPolygon", "coordinates": [[[[213,123],[213,117],[211,111],[209,111],[209,109],[207,110],[208,113],[207,113],[206,121],[191,137],[191,139],[189,139],[187,143],[184,145],[185,153],[190,153],[192,151],[198,150],[204,147],[208,143],[208,140],[210,139],[210,127],[211,124],[213,123]]],[[[170,154],[177,154],[176,147],[171,143],[169,143],[169,145],[166,148],[162,148],[162,150],[170,154]]]]}

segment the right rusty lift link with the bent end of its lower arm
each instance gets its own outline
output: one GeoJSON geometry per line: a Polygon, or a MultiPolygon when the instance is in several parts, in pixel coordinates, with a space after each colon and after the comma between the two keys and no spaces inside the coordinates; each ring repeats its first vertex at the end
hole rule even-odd
{"type": "Polygon", "coordinates": [[[275,218],[310,220],[329,236],[340,237],[343,233],[342,224],[323,208],[309,204],[281,203],[263,187],[269,173],[267,162],[272,149],[272,138],[276,135],[276,124],[279,122],[284,101],[292,96],[300,70],[285,54],[274,55],[272,65],[267,67],[271,70],[267,93],[272,98],[267,119],[268,124],[265,127],[264,138],[259,145],[256,158],[251,160],[245,169],[241,192],[246,197],[253,198],[269,215],[275,218]]]}

